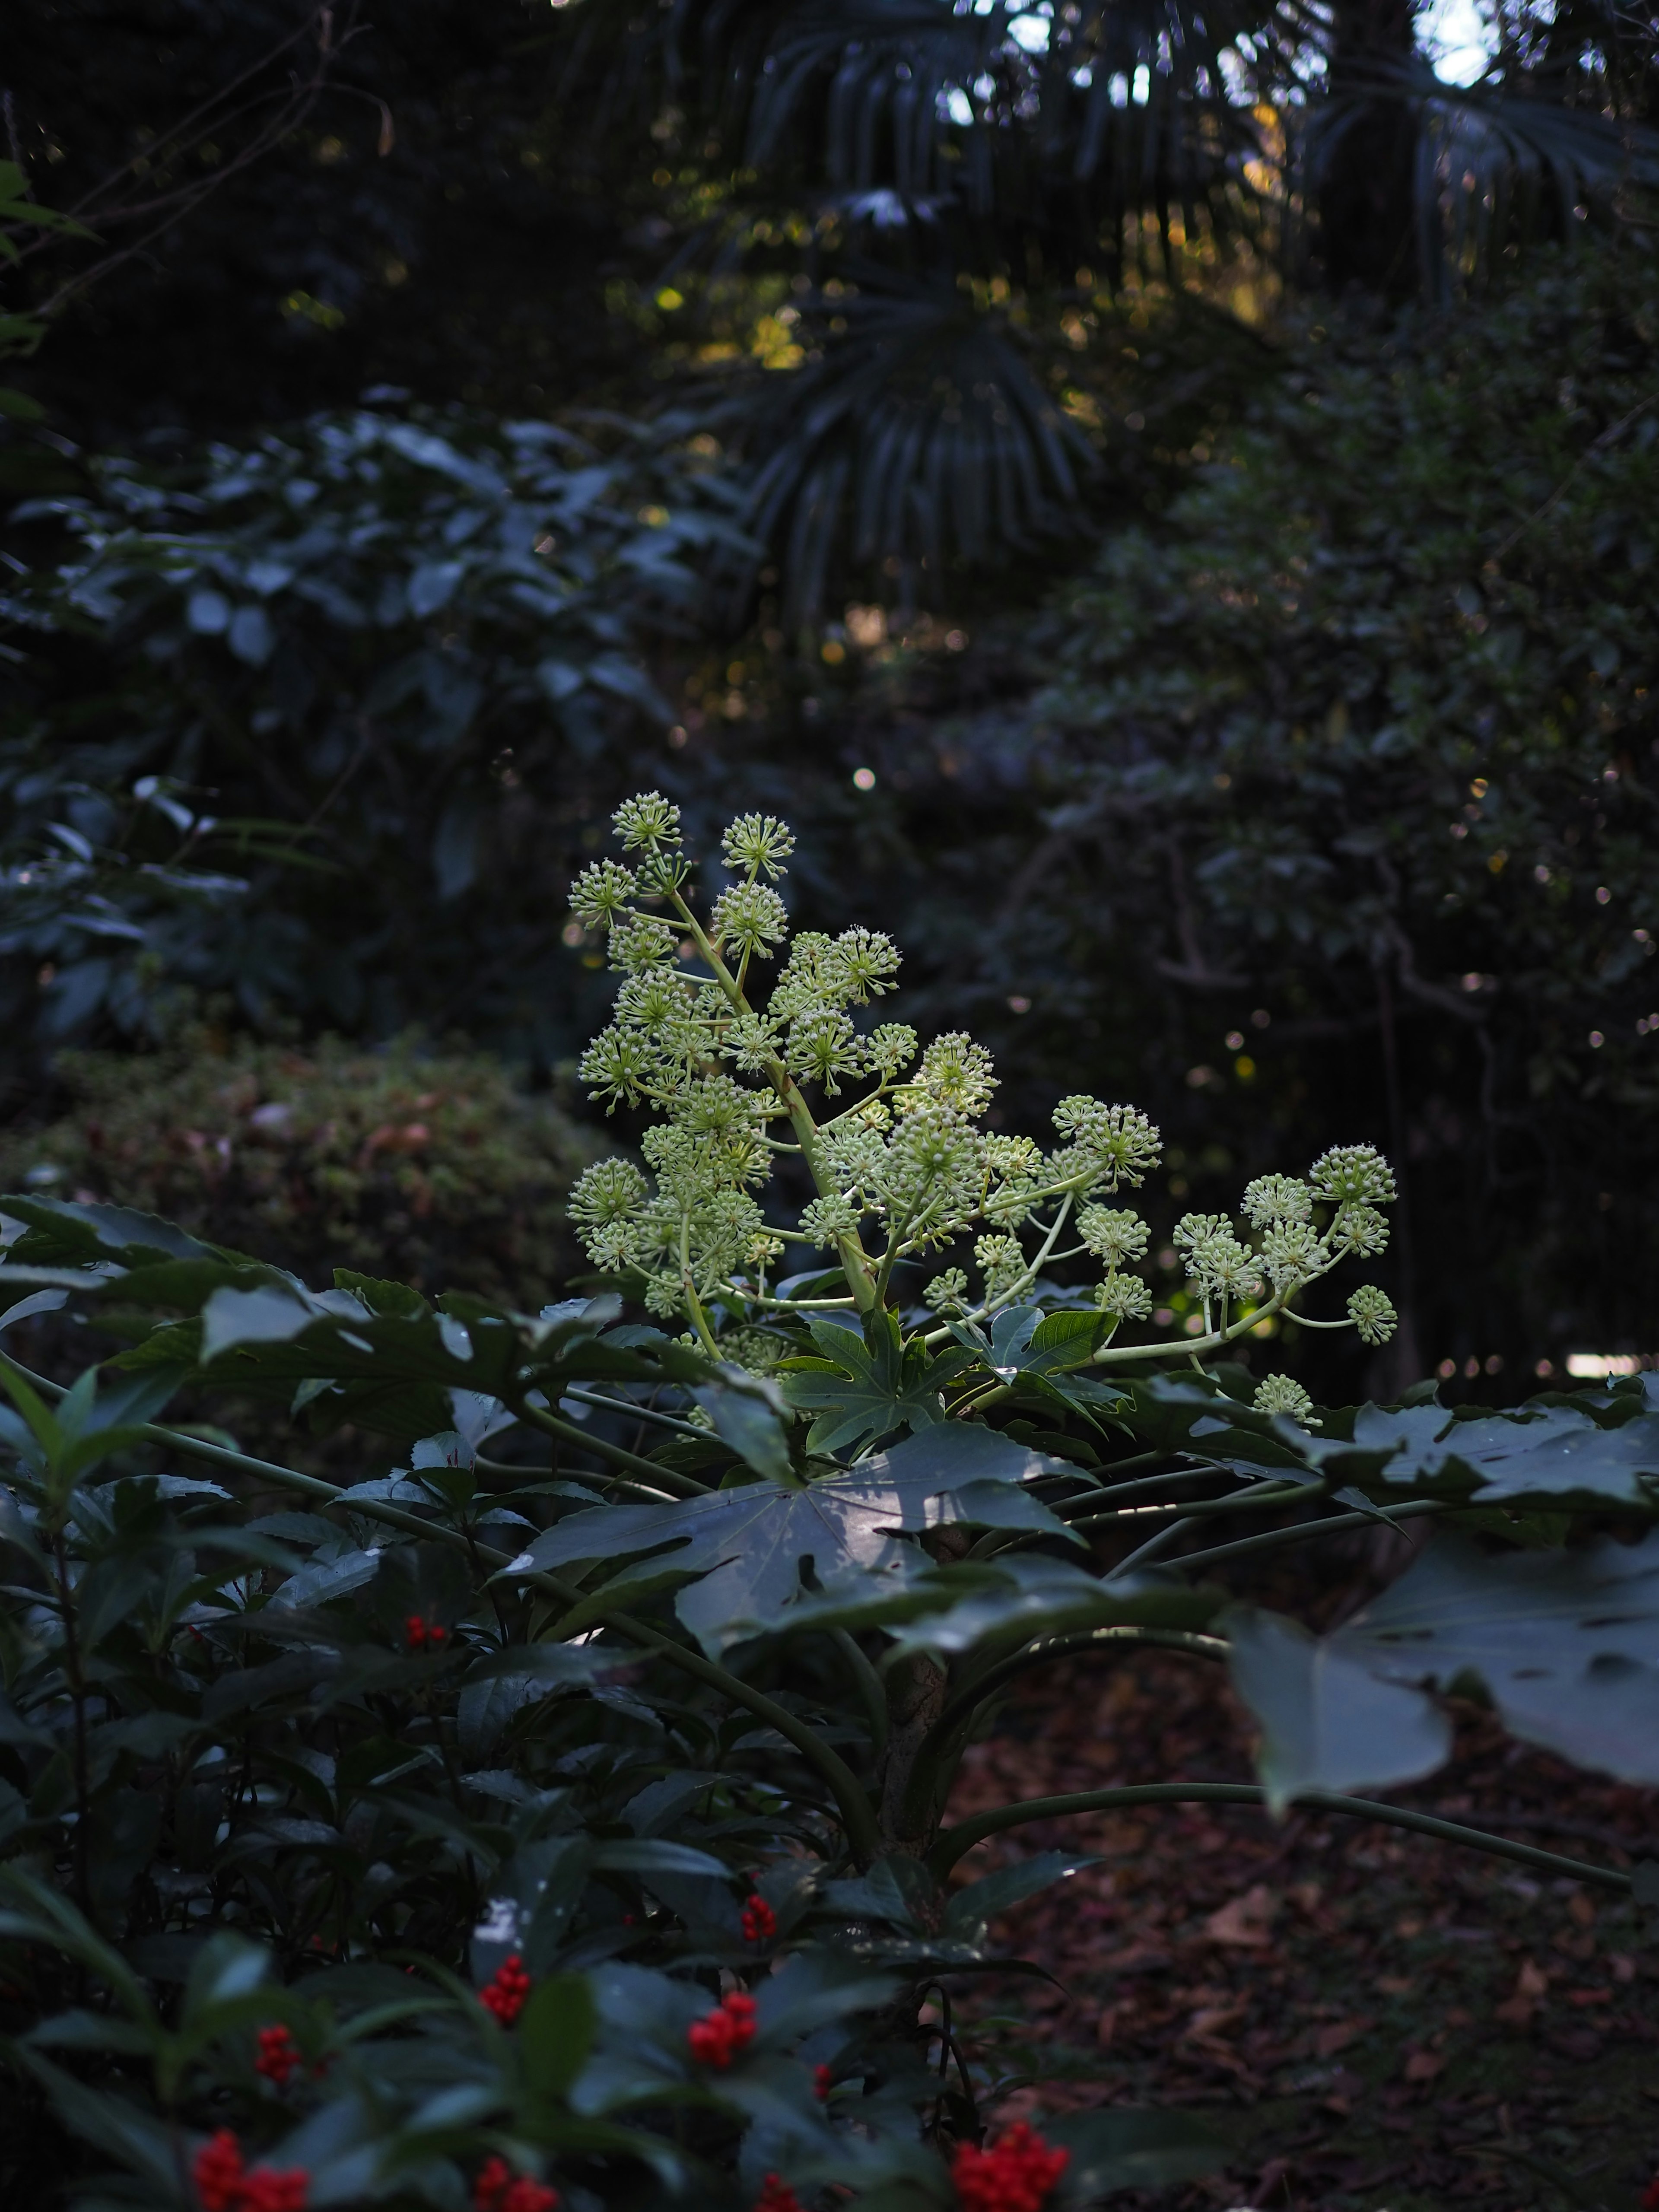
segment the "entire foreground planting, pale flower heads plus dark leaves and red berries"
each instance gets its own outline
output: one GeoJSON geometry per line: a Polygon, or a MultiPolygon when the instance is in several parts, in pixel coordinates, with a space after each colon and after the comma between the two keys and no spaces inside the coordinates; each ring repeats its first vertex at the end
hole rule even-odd
{"type": "MultiPolygon", "coordinates": [[[[962,1997],[1020,1971],[1000,1916],[1088,1865],[1022,1827],[1298,1803],[1659,1902],[1659,1867],[1354,1794],[1447,1759],[1453,1683],[1659,1781],[1646,1378],[1513,1413],[1252,1380],[1250,1332],[1385,1248],[1365,1146],[1186,1217],[1203,1329],[1148,1334],[1113,1203],[1157,1159],[1144,1115],[1066,1097],[1048,1150],[1002,1133],[971,1037],[878,1020],[883,936],[790,942],[781,823],[732,823],[712,900],[661,799],[617,827],[573,891],[622,975],[586,1071],[648,1126],[573,1194],[584,1296],[316,1290],[150,1214],[2,1201],[0,1327],[119,1345],[73,1380],[0,1365],[11,2192],[1060,2212],[1223,2146],[1110,2079],[998,2121],[1018,2077],[962,1997]],[[250,1402],[352,1480],[246,1451],[250,1402]],[[1416,1520],[1323,1637],[1237,1579],[1416,1520]],[[1228,1666],[1256,1783],[951,1814],[1031,1670],[1148,1641],[1228,1666]]],[[[1360,1283],[1303,1318],[1380,1338],[1391,1310],[1360,1283]]]]}

